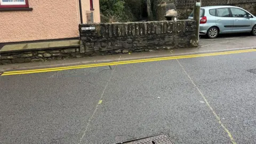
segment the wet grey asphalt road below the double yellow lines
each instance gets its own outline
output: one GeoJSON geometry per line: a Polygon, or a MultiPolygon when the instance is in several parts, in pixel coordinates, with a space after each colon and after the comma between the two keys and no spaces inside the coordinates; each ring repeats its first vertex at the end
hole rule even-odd
{"type": "Polygon", "coordinates": [[[0,76],[0,143],[256,143],[250,69],[256,52],[0,76]]]}

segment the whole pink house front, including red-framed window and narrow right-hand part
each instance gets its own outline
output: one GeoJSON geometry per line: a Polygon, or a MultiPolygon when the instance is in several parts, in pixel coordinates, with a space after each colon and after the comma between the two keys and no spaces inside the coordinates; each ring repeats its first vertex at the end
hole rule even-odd
{"type": "Polygon", "coordinates": [[[100,22],[99,0],[0,0],[0,43],[79,37],[100,22]]]}

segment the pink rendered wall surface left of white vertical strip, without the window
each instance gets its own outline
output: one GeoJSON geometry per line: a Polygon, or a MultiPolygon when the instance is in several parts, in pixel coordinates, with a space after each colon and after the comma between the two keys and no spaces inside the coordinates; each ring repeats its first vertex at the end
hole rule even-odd
{"type": "Polygon", "coordinates": [[[33,11],[0,11],[0,43],[79,37],[78,0],[29,0],[33,11]]]}

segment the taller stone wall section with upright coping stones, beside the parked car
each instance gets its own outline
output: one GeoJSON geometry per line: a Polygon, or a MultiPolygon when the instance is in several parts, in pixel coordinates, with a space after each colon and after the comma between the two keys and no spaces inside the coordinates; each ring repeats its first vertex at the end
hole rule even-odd
{"type": "Polygon", "coordinates": [[[192,20],[81,24],[80,52],[114,54],[195,47],[195,29],[192,20]],[[87,27],[92,30],[82,30],[87,27]]]}

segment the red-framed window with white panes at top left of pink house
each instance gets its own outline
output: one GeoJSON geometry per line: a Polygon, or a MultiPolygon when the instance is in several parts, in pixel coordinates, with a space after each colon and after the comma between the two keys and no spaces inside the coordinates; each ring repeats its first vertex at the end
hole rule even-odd
{"type": "Polygon", "coordinates": [[[28,0],[0,0],[0,8],[28,7],[28,0]]]}

